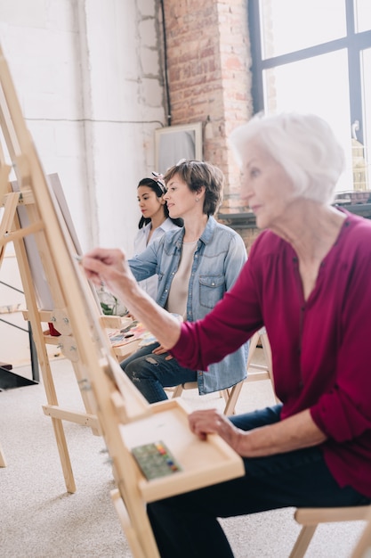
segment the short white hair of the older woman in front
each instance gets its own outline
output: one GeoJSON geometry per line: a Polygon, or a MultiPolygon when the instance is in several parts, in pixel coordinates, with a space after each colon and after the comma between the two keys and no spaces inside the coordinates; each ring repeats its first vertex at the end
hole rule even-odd
{"type": "Polygon", "coordinates": [[[327,204],[334,201],[335,185],[343,173],[343,147],[324,119],[314,114],[259,113],[230,135],[239,164],[246,144],[254,141],[286,171],[298,197],[327,204]]]}

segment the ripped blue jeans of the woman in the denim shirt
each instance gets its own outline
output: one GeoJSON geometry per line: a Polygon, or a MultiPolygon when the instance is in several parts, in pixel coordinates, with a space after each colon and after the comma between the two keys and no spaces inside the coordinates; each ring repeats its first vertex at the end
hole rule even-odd
{"type": "Polygon", "coordinates": [[[175,358],[165,360],[169,353],[154,355],[158,343],[138,349],[120,363],[128,378],[149,403],[167,399],[164,388],[172,388],[180,383],[197,382],[197,373],[183,368],[175,358]]]}

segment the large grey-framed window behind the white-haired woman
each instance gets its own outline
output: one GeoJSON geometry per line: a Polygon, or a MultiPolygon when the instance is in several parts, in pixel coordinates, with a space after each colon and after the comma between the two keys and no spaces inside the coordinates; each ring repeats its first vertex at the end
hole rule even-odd
{"type": "MultiPolygon", "coordinates": [[[[371,0],[249,0],[254,111],[315,112],[342,141],[338,191],[371,189],[371,0]]],[[[364,194],[362,194],[364,192],[364,194]]]]}

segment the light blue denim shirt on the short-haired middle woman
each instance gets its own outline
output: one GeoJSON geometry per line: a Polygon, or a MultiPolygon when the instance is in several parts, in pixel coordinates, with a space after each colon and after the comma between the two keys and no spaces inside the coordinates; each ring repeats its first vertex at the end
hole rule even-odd
{"type": "MultiPolygon", "coordinates": [[[[165,307],[170,286],[181,259],[184,228],[169,231],[134,258],[129,265],[137,281],[158,275],[157,304],[165,307]]],[[[190,273],[187,299],[187,321],[206,316],[235,283],[247,259],[242,238],[229,226],[209,217],[201,234],[190,273]]],[[[218,340],[215,340],[217,343],[218,340]]],[[[221,362],[209,365],[207,372],[198,371],[200,395],[225,390],[246,378],[248,343],[221,362]]]]}

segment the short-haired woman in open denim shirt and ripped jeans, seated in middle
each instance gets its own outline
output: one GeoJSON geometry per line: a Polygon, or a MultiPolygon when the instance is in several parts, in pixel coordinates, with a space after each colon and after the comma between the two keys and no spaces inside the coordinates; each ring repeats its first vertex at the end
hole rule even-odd
{"type": "MultiPolygon", "coordinates": [[[[137,281],[157,274],[157,303],[189,322],[214,308],[246,262],[239,234],[212,217],[222,201],[223,182],[222,171],[206,162],[184,160],[170,168],[164,199],[169,216],[183,218],[184,226],[129,260],[137,281]]],[[[184,382],[197,381],[200,395],[230,388],[246,378],[246,358],[247,344],[210,365],[207,372],[196,372],[152,343],[126,358],[121,367],[149,403],[155,403],[167,398],[164,388],[184,382]]]]}

